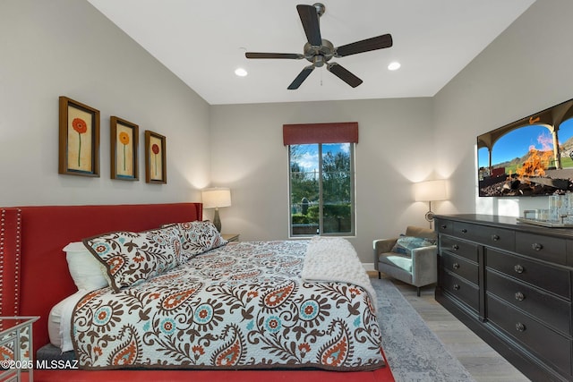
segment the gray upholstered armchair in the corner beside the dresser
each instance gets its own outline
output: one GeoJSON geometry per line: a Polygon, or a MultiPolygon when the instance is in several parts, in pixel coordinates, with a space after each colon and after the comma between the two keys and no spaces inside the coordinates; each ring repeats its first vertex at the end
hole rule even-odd
{"type": "MultiPolygon", "coordinates": [[[[423,237],[435,240],[436,233],[430,228],[409,225],[406,228],[406,236],[423,237]]],[[[438,281],[438,247],[416,248],[412,250],[412,256],[392,252],[392,248],[398,238],[374,240],[374,268],[378,271],[394,277],[406,284],[416,286],[417,294],[420,295],[420,287],[433,284],[438,281]]]]}

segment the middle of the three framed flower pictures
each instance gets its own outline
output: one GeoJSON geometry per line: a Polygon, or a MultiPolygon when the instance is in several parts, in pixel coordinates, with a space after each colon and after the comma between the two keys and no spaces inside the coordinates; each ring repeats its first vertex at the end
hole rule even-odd
{"type": "Polygon", "coordinates": [[[109,117],[111,179],[139,181],[140,127],[118,116],[109,117]]]}

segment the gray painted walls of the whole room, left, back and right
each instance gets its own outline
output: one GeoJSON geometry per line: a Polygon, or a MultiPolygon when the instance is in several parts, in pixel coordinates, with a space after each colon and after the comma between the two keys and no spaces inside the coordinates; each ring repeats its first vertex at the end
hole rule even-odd
{"type": "MultiPolygon", "coordinates": [[[[199,201],[229,186],[223,231],[243,240],[288,233],[283,123],[356,121],[356,237],[426,225],[412,183],[449,178],[439,213],[518,215],[546,198],[476,197],[475,137],[573,94],[569,0],[537,1],[433,98],[209,106],[89,3],[0,2],[0,205],[199,201]],[[101,176],[57,174],[57,98],[101,112],[101,176]],[[109,179],[109,116],[167,136],[167,184],[109,179]]],[[[486,27],[486,26],[484,26],[486,27]]],[[[210,218],[212,211],[206,212],[210,218]]]]}

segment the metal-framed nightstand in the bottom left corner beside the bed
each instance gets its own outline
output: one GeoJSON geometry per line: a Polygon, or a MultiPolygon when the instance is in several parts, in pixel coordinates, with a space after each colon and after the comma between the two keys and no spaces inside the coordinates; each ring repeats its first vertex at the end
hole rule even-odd
{"type": "Polygon", "coordinates": [[[22,370],[34,380],[32,324],[39,317],[0,317],[0,380],[21,381],[22,370]]]}

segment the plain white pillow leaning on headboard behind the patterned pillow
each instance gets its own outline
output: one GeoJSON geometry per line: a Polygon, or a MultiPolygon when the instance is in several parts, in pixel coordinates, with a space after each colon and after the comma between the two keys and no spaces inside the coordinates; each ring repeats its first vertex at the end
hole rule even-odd
{"type": "Polygon", "coordinates": [[[91,292],[109,285],[106,267],[93,257],[83,242],[70,242],[64,251],[73,283],[79,290],[91,292]]]}

